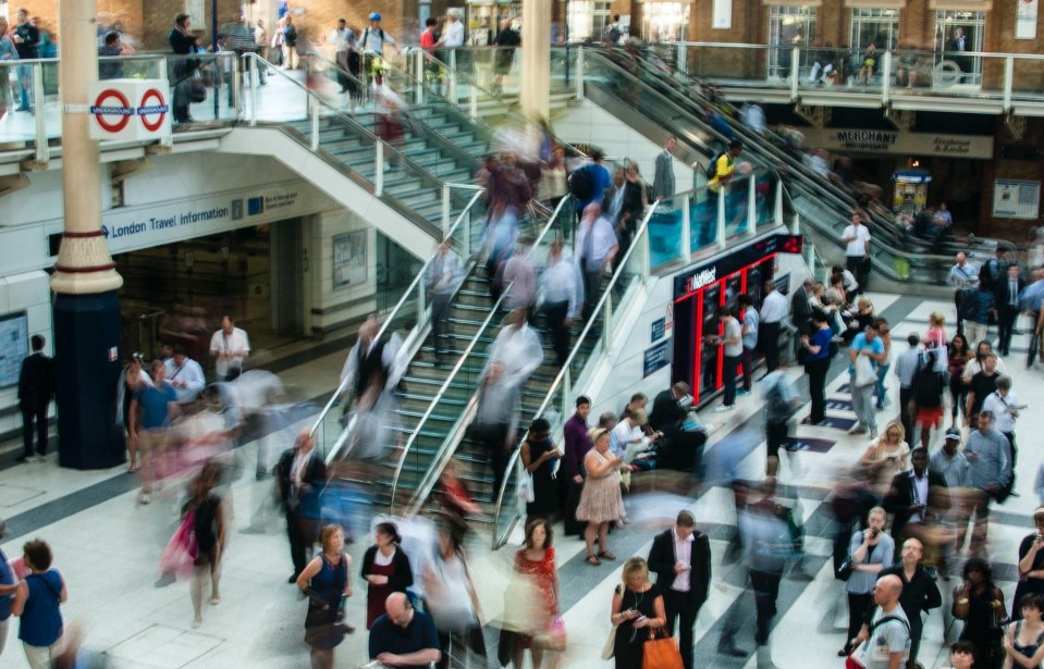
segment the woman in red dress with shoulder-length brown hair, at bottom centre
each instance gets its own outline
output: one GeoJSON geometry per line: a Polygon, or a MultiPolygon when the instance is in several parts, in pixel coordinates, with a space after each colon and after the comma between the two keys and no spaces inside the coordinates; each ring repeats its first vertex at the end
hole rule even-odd
{"type": "Polygon", "coordinates": [[[558,569],[552,540],[551,524],[542,518],[533,519],[526,526],[526,546],[515,554],[515,572],[521,577],[526,585],[524,592],[528,594],[525,603],[527,630],[516,636],[512,654],[515,669],[521,669],[527,648],[533,669],[540,669],[548,651],[565,649],[565,628],[558,608],[558,569]]]}

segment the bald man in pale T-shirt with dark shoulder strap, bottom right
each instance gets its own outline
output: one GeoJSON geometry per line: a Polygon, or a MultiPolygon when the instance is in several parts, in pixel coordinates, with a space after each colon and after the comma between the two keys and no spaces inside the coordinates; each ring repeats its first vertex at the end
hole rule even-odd
{"type": "Polygon", "coordinates": [[[867,669],[899,669],[910,655],[910,621],[899,605],[902,580],[897,575],[877,579],[874,585],[876,609],[869,627],[856,637],[851,659],[867,669]]]}

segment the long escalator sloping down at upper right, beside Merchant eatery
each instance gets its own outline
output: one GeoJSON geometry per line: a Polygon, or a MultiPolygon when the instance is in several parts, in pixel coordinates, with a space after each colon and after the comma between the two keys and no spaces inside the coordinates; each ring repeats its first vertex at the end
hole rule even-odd
{"type": "MultiPolygon", "coordinates": [[[[585,91],[589,99],[628,125],[651,127],[658,139],[665,132],[677,135],[703,159],[709,160],[725,145],[729,137],[702,117],[707,100],[695,92],[695,79],[678,82],[642,58],[630,61],[625,69],[617,62],[619,58],[615,50],[585,52],[585,91]]],[[[771,137],[760,137],[735,120],[728,123],[733,136],[744,140],[744,159],[779,171],[793,211],[807,224],[805,232],[822,250],[835,251],[826,255],[843,256],[840,234],[848,225],[855,200],[775,146],[771,137]]],[[[880,209],[871,210],[871,215],[872,264],[880,280],[907,288],[945,283],[953,256],[932,252],[930,244],[897,231],[880,209]]],[[[961,247],[967,250],[968,245],[961,247]]]]}

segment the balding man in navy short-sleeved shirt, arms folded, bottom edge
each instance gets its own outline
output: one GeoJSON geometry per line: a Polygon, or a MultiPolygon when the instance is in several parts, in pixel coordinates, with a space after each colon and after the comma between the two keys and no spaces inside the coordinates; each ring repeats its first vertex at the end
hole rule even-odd
{"type": "Polygon", "coordinates": [[[370,659],[405,669],[428,669],[431,662],[442,659],[431,617],[414,609],[406,595],[390,594],[384,610],[385,615],[370,628],[370,659]]]}

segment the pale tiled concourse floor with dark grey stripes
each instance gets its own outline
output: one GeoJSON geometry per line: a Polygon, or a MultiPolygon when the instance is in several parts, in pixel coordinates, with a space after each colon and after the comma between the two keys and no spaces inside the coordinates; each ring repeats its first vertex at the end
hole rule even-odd
{"type": "MultiPolygon", "coordinates": [[[[917,303],[911,298],[875,295],[879,311],[892,319],[897,342],[909,331],[921,332],[928,313],[939,310],[951,317],[953,305],[917,303]]],[[[1022,347],[1022,338],[1012,348],[1022,347]]],[[[905,344],[898,344],[901,350],[905,344]]],[[[340,369],[342,354],[324,354],[283,373],[300,386],[302,395],[314,397],[329,392],[331,379],[340,369]]],[[[835,367],[839,362],[835,361],[835,367]]],[[[835,370],[836,371],[836,370],[835,370]]],[[[1031,406],[1044,406],[1044,389],[1040,371],[1027,371],[1014,354],[1009,372],[1016,382],[1016,392],[1031,406]]],[[[800,381],[797,369],[790,374],[800,381]]],[[[828,397],[845,397],[838,391],[847,375],[836,375],[828,386],[828,397]]],[[[892,393],[896,392],[895,380],[892,393]]],[[[647,388],[652,394],[658,388],[647,388]]],[[[760,401],[756,396],[740,399],[737,410],[724,422],[720,414],[710,420],[715,425],[711,442],[714,448],[729,444],[730,437],[745,424],[758,425],[760,401]]],[[[802,409],[807,412],[807,409],[802,409]]],[[[894,409],[879,414],[879,420],[894,409]]],[[[844,416],[844,410],[833,411],[844,416]]],[[[711,414],[709,414],[711,416],[711,414]]],[[[1025,412],[1020,426],[1022,441],[1017,491],[1002,508],[991,529],[992,553],[1002,566],[1000,572],[1010,574],[1016,561],[1018,543],[1030,531],[1029,515],[1036,506],[1032,492],[1039,457],[1030,435],[1044,422],[1032,412],[1025,412]],[[1004,568],[1007,566],[1008,568],[1004,568]]],[[[288,446],[297,425],[270,437],[275,450],[288,446]]],[[[826,493],[833,486],[837,470],[859,457],[864,441],[850,437],[842,431],[801,426],[801,436],[815,436],[836,443],[825,453],[803,453],[801,473],[794,475],[791,461],[784,460],[783,481],[793,486],[801,500],[807,520],[809,557],[805,563],[811,578],[788,578],[784,581],[778,602],[779,615],[773,632],[772,653],[781,669],[836,667],[834,654],[840,647],[847,610],[840,584],[834,580],[830,566],[831,545],[819,536],[824,526],[828,505],[826,493]],[[815,530],[815,531],[813,531],[815,530]]],[[[253,466],[256,444],[241,448],[242,461],[253,466]]],[[[763,471],[763,446],[756,448],[740,463],[740,473],[757,479],[763,471]]],[[[248,474],[253,474],[250,469],[248,474]]],[[[221,603],[207,606],[204,624],[191,628],[192,606],[188,586],[184,581],[159,586],[158,559],[167,540],[177,523],[177,491],[168,487],[156,496],[150,506],[135,505],[135,482],[123,468],[107,472],[77,472],[62,470],[53,462],[22,464],[0,471],[0,515],[19,522],[16,536],[7,540],[2,548],[9,556],[20,553],[22,543],[40,536],[51,543],[56,566],[69,584],[69,603],[63,607],[66,622],[82,625],[85,648],[90,654],[103,654],[111,667],[118,668],[216,668],[258,667],[282,669],[308,666],[307,649],[303,644],[305,602],[296,589],[286,584],[290,559],[282,520],[270,511],[270,483],[258,482],[245,475],[231,486],[234,508],[234,529],[229,533],[221,603]],[[57,510],[56,510],[57,509],[57,510]],[[37,518],[38,516],[38,518],[37,518]],[[34,520],[36,519],[36,522],[34,520]],[[253,521],[253,522],[251,522],[253,521]],[[245,534],[247,525],[266,528],[260,534],[245,534]]],[[[630,498],[631,524],[611,538],[613,549],[626,555],[646,555],[652,536],[670,523],[680,507],[688,507],[712,537],[714,577],[711,597],[697,622],[697,657],[700,667],[752,668],[752,656],[732,659],[715,655],[716,640],[726,617],[740,620],[753,615],[752,597],[745,590],[746,575],[741,568],[723,563],[723,555],[732,526],[735,524],[730,495],[723,488],[712,488],[699,499],[668,495],[630,498]]],[[[480,599],[487,621],[495,620],[504,606],[504,591],[514,553],[513,545],[494,554],[487,549],[483,538],[475,541],[471,552],[472,571],[481,584],[480,599]]],[[[349,547],[358,560],[366,542],[349,547]]],[[[569,633],[569,649],[561,667],[587,669],[609,667],[599,657],[602,643],[610,630],[609,606],[612,590],[618,583],[622,562],[592,568],[582,561],[582,542],[563,538],[557,542],[563,583],[563,608],[569,633]]],[[[356,577],[357,579],[357,577],[356,577]]],[[[943,661],[943,630],[949,623],[945,610],[949,593],[957,580],[941,583],[944,606],[928,618],[921,661],[935,668],[943,661]]],[[[1014,593],[1014,583],[1000,583],[1006,595],[1014,593]]],[[[366,634],[361,625],[365,589],[356,581],[356,596],[348,605],[348,618],[359,630],[346,637],[337,649],[339,667],[355,667],[365,661],[366,634]]],[[[752,620],[744,628],[752,630],[752,620]]],[[[9,633],[8,647],[0,655],[0,667],[21,669],[25,660],[16,643],[16,623],[9,633]]],[[[495,637],[495,635],[492,635],[495,637]]],[[[742,632],[739,645],[752,649],[751,632],[742,632]]]]}

